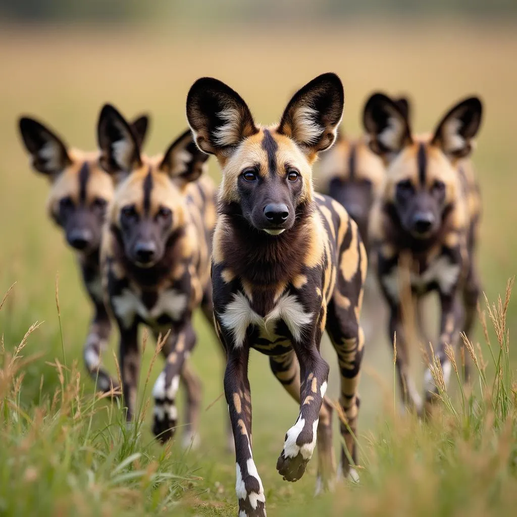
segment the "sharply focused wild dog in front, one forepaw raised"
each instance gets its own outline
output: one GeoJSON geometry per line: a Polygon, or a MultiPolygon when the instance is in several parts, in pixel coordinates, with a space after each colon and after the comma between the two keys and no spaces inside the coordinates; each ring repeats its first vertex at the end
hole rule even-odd
{"type": "MultiPolygon", "coordinates": [[[[357,225],[329,197],[316,194],[312,164],[330,147],[343,112],[343,86],[326,73],[301,88],[280,123],[255,124],[244,100],[211,78],[197,80],[187,118],[197,145],[222,170],[212,284],[216,329],[227,354],[224,392],[236,449],[239,516],[264,516],[265,496],[251,450],[250,348],[269,356],[273,374],[300,404],[277,462],[298,480],[318,445],[317,490],[335,473],[329,366],[320,355],[326,329],[341,371],[340,405],[356,432],[363,355],[359,326],[366,250],[357,225]]],[[[341,469],[356,478],[348,428],[341,469]]]]}

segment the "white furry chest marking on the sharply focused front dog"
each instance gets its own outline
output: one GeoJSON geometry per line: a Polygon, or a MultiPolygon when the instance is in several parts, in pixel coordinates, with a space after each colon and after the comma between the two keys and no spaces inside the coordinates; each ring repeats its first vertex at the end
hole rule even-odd
{"type": "Polygon", "coordinates": [[[244,293],[238,292],[234,294],[233,300],[221,315],[221,323],[225,329],[232,332],[234,345],[237,348],[244,343],[246,331],[250,325],[257,325],[269,334],[273,332],[273,324],[278,320],[283,320],[293,334],[293,338],[299,341],[302,327],[312,321],[312,313],[305,312],[295,295],[285,293],[280,297],[277,305],[262,317],[253,311],[244,293]]]}

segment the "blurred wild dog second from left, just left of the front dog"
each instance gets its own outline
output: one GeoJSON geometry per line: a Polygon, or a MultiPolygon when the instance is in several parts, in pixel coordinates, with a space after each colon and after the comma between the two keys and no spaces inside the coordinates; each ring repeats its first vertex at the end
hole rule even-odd
{"type": "Polygon", "coordinates": [[[120,370],[127,419],[134,416],[140,371],[140,323],[167,336],[163,372],[153,389],[153,432],[162,441],[177,425],[179,382],[187,390],[183,444],[197,443],[201,381],[187,358],[196,334],[192,312],[202,307],[213,325],[211,237],[216,222],[215,186],[202,173],[207,155],[190,130],[163,155],[147,158],[123,116],[105,105],[98,140],[104,169],[118,178],[102,239],[102,275],[120,331],[120,370]]]}

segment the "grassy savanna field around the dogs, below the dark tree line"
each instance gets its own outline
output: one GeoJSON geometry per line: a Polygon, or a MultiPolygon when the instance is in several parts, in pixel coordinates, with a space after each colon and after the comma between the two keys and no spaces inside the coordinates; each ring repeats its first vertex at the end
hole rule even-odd
{"type": "MultiPolygon", "coordinates": [[[[475,153],[484,206],[480,268],[488,299],[501,293],[504,301],[507,279],[517,264],[515,55],[515,27],[481,24],[357,22],[331,28],[293,27],[287,32],[226,27],[212,33],[199,27],[157,32],[136,27],[97,32],[77,27],[48,31],[4,27],[0,32],[0,299],[17,283],[0,311],[5,346],[0,358],[0,514],[236,514],[235,463],[225,452],[227,413],[223,401],[217,400],[222,394],[223,362],[201,319],[193,355],[204,383],[199,450],[184,453],[177,444],[163,450],[149,430],[150,410],[143,411],[140,427],[126,431],[116,405],[94,400],[93,383],[82,368],[90,307],[74,257],[45,216],[47,183],[28,169],[16,132],[21,113],[47,121],[69,144],[93,149],[102,103],[111,101],[128,116],[149,111],[153,120],[147,150],[155,152],[186,127],[186,92],[201,75],[230,83],[249,102],[257,120],[269,123],[280,116],[295,88],[318,73],[336,71],[345,86],[344,129],[353,134],[359,131],[362,104],[374,89],[409,94],[417,131],[430,130],[460,97],[480,94],[486,108],[475,153]],[[62,333],[55,301],[57,273],[62,333]],[[23,358],[11,363],[14,348],[36,321],[42,323],[26,339],[23,358]],[[66,361],[68,369],[60,373],[50,364],[56,358],[60,364],[66,361]],[[13,380],[20,374],[21,384],[13,380]]],[[[218,178],[215,163],[210,163],[211,174],[218,178]]],[[[485,308],[484,301],[481,306],[485,308]]],[[[507,311],[507,330],[513,336],[514,300],[507,311]]],[[[431,309],[431,317],[434,312],[431,309]]],[[[460,390],[453,389],[454,410],[445,405],[434,422],[422,426],[401,417],[399,408],[393,418],[392,352],[383,333],[385,322],[379,317],[374,321],[379,336],[367,343],[361,381],[361,484],[341,483],[333,494],[317,499],[313,498],[315,459],[296,484],[282,481],[275,470],[284,433],[298,412],[270,374],[267,360],[252,354],[253,446],[268,514],[514,512],[515,355],[510,351],[508,359],[503,351],[501,380],[493,384],[500,348],[491,330],[493,361],[478,325],[474,341],[481,341],[488,363],[486,382],[476,376],[476,399],[467,398],[466,406],[460,390]]],[[[115,351],[115,332],[112,343],[115,351]]],[[[144,393],[153,349],[149,341],[140,390],[143,408],[161,368],[158,357],[144,393]]],[[[325,354],[333,366],[327,346],[325,354]]],[[[414,359],[419,373],[417,345],[414,359]]],[[[111,350],[105,361],[114,372],[111,350]]],[[[332,378],[331,396],[337,392],[332,378]]]]}

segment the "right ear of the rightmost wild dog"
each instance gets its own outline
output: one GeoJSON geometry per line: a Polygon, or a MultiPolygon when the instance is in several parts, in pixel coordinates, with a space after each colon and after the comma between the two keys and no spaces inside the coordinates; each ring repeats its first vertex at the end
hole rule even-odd
{"type": "Polygon", "coordinates": [[[462,100],[440,120],[431,143],[440,147],[452,160],[468,156],[472,152],[482,116],[483,104],[478,97],[462,100]]]}

